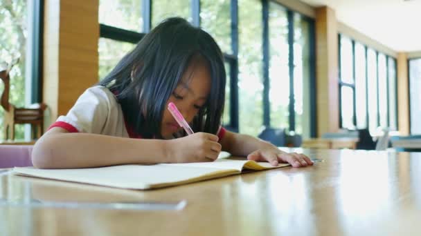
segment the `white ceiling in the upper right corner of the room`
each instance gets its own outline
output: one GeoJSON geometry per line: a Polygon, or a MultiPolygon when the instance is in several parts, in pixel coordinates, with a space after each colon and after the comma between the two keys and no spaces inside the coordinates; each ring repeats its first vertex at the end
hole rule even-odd
{"type": "Polygon", "coordinates": [[[397,52],[421,51],[421,0],[301,0],[397,52]]]}

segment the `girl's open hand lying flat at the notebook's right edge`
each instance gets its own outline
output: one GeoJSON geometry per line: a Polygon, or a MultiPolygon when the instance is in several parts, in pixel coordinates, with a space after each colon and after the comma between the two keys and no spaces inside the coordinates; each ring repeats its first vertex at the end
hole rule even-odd
{"type": "Polygon", "coordinates": [[[255,150],[247,156],[247,159],[253,161],[267,161],[272,166],[278,166],[278,163],[289,163],[294,167],[312,166],[313,161],[306,155],[298,153],[285,153],[276,146],[267,144],[264,148],[255,150]]]}

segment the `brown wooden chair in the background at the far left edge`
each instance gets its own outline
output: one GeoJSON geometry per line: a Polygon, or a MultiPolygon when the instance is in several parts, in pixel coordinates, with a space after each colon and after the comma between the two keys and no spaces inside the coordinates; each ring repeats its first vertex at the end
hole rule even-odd
{"type": "Polygon", "coordinates": [[[44,130],[44,110],[46,109],[46,104],[33,104],[28,108],[16,108],[13,104],[10,104],[9,72],[11,69],[12,66],[9,68],[0,68],[0,79],[4,83],[4,90],[1,95],[1,106],[5,111],[3,118],[4,139],[15,139],[15,124],[30,124],[31,139],[39,138],[44,130]]]}

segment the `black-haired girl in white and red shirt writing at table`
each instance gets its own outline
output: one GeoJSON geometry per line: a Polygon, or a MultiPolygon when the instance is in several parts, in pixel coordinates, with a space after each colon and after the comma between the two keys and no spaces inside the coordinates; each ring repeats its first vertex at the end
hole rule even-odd
{"type": "Polygon", "coordinates": [[[214,161],[221,150],[256,161],[312,165],[305,155],[220,126],[225,70],[215,40],[170,18],[138,43],[105,79],[88,88],[35,144],[37,168],[214,161]],[[178,126],[173,102],[191,124],[178,126]]]}

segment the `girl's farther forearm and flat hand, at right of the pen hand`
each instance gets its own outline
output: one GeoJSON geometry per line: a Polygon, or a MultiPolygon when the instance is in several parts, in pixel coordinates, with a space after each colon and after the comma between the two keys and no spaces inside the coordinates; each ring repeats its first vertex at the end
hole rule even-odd
{"type": "Polygon", "coordinates": [[[251,137],[240,135],[226,130],[224,138],[220,141],[222,150],[237,156],[247,156],[247,159],[254,161],[268,161],[273,166],[278,162],[288,162],[294,167],[312,165],[313,162],[305,155],[298,153],[285,153],[273,144],[251,137]]]}

